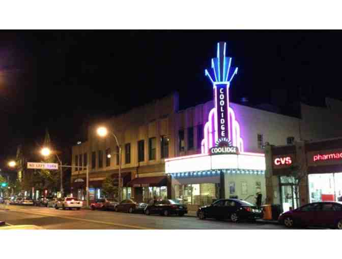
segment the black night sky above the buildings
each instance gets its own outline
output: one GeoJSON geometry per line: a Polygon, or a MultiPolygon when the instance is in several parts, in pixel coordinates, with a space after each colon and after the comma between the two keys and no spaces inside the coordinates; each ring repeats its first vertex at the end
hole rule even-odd
{"type": "MultiPolygon", "coordinates": [[[[187,108],[212,99],[204,76],[227,42],[239,73],[233,102],[341,99],[339,31],[2,31],[0,168],[20,143],[70,147],[87,123],[180,93],[187,108]],[[283,89],[286,91],[275,91],[283,89]],[[300,90],[301,89],[301,90],[300,90]],[[286,95],[284,98],[277,93],[286,95]],[[275,98],[277,97],[277,98],[275,98]]],[[[280,105],[280,104],[279,104],[280,105]]]]}

